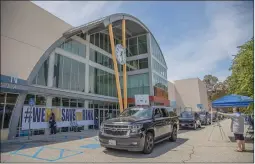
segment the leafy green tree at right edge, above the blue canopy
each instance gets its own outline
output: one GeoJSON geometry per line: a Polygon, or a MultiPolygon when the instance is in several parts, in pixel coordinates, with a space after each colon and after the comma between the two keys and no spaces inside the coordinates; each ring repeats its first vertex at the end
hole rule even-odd
{"type": "MultiPolygon", "coordinates": [[[[238,47],[238,54],[233,59],[230,70],[232,74],[227,78],[229,93],[245,95],[254,98],[254,40],[253,38],[238,47]]],[[[253,104],[249,106],[253,111],[253,104]]]]}

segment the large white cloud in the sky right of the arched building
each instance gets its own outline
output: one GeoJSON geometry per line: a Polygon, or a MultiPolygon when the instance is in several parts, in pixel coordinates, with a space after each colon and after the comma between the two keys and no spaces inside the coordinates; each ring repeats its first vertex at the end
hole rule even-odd
{"type": "Polygon", "coordinates": [[[190,32],[176,45],[163,47],[168,80],[205,74],[218,75],[223,80],[230,75],[228,70],[218,70],[217,62],[231,60],[237,53],[236,47],[253,36],[253,22],[247,24],[244,15],[231,2],[215,3],[218,5],[210,3],[206,6],[210,25],[205,32],[195,31],[194,35],[190,32]]]}

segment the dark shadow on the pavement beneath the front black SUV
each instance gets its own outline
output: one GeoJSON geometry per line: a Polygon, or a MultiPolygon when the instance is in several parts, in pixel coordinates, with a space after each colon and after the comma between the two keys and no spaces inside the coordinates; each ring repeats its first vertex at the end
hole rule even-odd
{"type": "Polygon", "coordinates": [[[184,144],[188,139],[178,138],[176,142],[169,142],[168,140],[163,141],[155,145],[154,150],[151,154],[142,154],[141,152],[129,152],[126,150],[115,150],[109,149],[103,152],[108,155],[116,157],[126,157],[126,158],[155,158],[161,156],[169,151],[174,151],[173,149],[184,144]]]}

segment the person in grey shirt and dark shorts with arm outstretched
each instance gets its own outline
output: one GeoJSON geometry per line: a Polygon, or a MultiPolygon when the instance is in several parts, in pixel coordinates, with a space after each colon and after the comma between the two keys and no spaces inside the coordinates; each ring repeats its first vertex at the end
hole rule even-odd
{"type": "Polygon", "coordinates": [[[244,115],[239,111],[239,108],[233,108],[233,114],[221,113],[221,115],[231,118],[231,132],[234,133],[235,140],[237,142],[237,152],[245,151],[244,141],[244,115]]]}

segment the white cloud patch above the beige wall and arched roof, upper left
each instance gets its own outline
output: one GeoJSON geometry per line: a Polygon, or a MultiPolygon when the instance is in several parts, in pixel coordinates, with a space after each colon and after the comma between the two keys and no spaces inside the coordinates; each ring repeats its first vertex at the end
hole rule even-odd
{"type": "Polygon", "coordinates": [[[121,1],[33,1],[73,26],[116,13],[121,1]]]}

